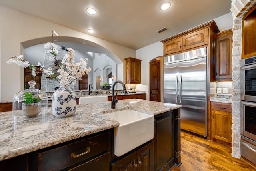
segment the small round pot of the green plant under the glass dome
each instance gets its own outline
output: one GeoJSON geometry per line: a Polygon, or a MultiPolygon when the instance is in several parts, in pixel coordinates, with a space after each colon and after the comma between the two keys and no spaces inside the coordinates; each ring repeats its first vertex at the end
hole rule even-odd
{"type": "Polygon", "coordinates": [[[26,117],[36,117],[41,112],[41,103],[22,103],[22,115],[26,117]]]}

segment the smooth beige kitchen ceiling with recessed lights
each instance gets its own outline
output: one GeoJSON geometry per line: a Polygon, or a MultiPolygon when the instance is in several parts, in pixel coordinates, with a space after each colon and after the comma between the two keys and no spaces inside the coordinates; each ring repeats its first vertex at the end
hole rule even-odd
{"type": "Polygon", "coordinates": [[[92,36],[137,50],[229,13],[231,0],[0,0],[0,5],[86,34],[92,28],[92,36]],[[171,7],[160,10],[162,2],[171,7]],[[88,7],[96,15],[88,14],[88,7]],[[163,27],[168,30],[156,32],[163,27]]]}

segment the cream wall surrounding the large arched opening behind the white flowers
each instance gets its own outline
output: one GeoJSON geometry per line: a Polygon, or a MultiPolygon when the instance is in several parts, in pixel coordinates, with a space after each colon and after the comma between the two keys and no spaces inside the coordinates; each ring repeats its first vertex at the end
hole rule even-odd
{"type": "Polygon", "coordinates": [[[15,64],[6,64],[8,58],[23,54],[24,48],[21,42],[51,36],[52,29],[56,30],[59,36],[82,38],[99,44],[118,56],[122,62],[125,62],[124,58],[129,56],[136,58],[136,50],[4,6],[0,6],[0,28],[0,100],[12,99],[16,92],[23,90],[24,86],[22,68],[15,64]]]}

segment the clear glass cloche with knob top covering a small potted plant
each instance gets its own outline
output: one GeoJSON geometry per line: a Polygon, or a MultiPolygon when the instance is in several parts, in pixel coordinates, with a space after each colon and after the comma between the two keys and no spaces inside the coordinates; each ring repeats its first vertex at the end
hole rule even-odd
{"type": "Polygon", "coordinates": [[[16,93],[12,102],[12,113],[26,117],[36,117],[38,114],[47,114],[47,94],[35,89],[36,82],[28,82],[29,89],[16,93]]]}

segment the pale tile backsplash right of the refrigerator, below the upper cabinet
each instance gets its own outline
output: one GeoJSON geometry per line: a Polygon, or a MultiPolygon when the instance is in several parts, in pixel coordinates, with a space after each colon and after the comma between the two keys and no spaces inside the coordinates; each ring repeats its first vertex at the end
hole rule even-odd
{"type": "Polygon", "coordinates": [[[232,82],[210,82],[210,96],[216,94],[232,95],[232,82]]]}

